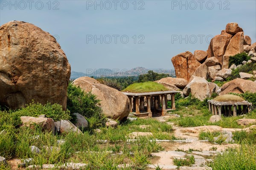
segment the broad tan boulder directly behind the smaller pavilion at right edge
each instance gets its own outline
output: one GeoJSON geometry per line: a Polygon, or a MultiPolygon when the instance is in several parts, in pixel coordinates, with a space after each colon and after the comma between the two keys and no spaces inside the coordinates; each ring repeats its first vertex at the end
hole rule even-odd
{"type": "Polygon", "coordinates": [[[256,83],[251,80],[245,79],[233,79],[230,82],[226,82],[221,87],[221,94],[238,93],[243,94],[246,91],[256,93],[256,83]]]}

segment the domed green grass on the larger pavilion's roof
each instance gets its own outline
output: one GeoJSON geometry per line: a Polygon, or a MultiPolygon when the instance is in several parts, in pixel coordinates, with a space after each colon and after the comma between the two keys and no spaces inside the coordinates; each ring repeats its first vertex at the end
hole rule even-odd
{"type": "Polygon", "coordinates": [[[168,91],[168,89],[157,82],[139,82],[129,85],[122,91],[130,93],[145,93],[154,91],[168,91]]]}

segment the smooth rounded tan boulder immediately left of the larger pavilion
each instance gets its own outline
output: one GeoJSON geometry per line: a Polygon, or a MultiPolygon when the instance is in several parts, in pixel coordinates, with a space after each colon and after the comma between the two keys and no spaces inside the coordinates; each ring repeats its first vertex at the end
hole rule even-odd
{"type": "Polygon", "coordinates": [[[103,113],[112,119],[122,120],[130,113],[130,102],[128,97],[122,92],[99,83],[90,77],[80,77],[73,81],[84,92],[90,92],[97,96],[100,101],[103,113]]]}

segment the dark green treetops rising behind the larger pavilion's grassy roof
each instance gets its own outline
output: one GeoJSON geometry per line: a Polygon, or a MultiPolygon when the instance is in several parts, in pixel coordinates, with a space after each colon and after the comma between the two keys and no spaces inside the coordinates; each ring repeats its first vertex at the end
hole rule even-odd
{"type": "Polygon", "coordinates": [[[165,77],[170,77],[170,75],[164,74],[164,73],[159,74],[159,73],[155,73],[154,71],[150,70],[150,71],[148,71],[147,74],[140,75],[138,82],[148,82],[148,81],[154,82],[156,80],[160,80],[165,77]]]}

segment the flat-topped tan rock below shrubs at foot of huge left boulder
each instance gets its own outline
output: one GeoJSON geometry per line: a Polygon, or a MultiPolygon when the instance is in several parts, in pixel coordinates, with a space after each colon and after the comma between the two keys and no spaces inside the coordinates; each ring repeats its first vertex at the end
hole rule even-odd
{"type": "Polygon", "coordinates": [[[43,131],[52,131],[52,134],[55,134],[55,125],[51,118],[21,116],[20,119],[25,126],[30,126],[35,123],[36,125],[40,125],[43,131]]]}

